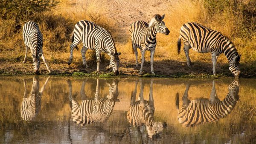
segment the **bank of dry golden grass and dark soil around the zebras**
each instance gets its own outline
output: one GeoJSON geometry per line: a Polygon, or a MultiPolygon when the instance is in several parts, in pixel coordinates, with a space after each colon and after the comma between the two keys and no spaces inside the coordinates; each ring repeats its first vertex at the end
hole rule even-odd
{"type": "MultiPolygon", "coordinates": [[[[154,77],[211,77],[212,62],[210,54],[200,54],[190,51],[193,66],[186,67],[186,58],[183,52],[177,55],[177,37],[183,23],[193,21],[220,31],[230,37],[239,54],[241,54],[241,77],[256,77],[256,30],[255,10],[256,3],[253,0],[181,0],[170,4],[164,19],[170,30],[168,36],[157,35],[157,48],[154,56],[154,77]],[[226,2],[229,3],[226,3],[226,2]],[[233,3],[236,2],[236,3],[233,3]],[[253,7],[254,6],[254,7],[253,7]],[[204,75],[204,76],[202,76],[204,75]],[[207,76],[208,75],[208,76],[207,76]]],[[[35,13],[33,17],[21,20],[17,23],[9,18],[0,19],[0,74],[17,75],[32,74],[32,58],[28,55],[28,62],[22,64],[25,55],[22,29],[28,20],[37,22],[44,34],[44,54],[55,75],[76,75],[76,72],[88,73],[93,76],[96,70],[95,52],[88,50],[86,58],[90,66],[85,69],[82,66],[80,51],[74,50],[73,64],[67,66],[69,58],[69,37],[73,27],[79,20],[91,20],[99,26],[108,29],[116,42],[116,48],[120,55],[121,76],[137,75],[139,68],[135,67],[135,57],[131,50],[131,41],[128,36],[128,28],[121,39],[117,33],[119,26],[110,18],[108,7],[99,0],[71,1],[61,0],[56,7],[43,13],[35,13]]],[[[162,13],[162,14],[163,14],[162,13]]],[[[79,48],[81,49],[81,44],[79,48]]],[[[139,52],[140,53],[140,52],[139,52]]],[[[103,55],[101,69],[109,63],[109,57],[103,55]]],[[[139,55],[140,58],[140,55],[139,55]]],[[[145,75],[150,72],[150,56],[146,52],[145,75]]],[[[41,63],[41,73],[47,74],[44,63],[41,63]]],[[[217,73],[221,76],[232,76],[228,70],[227,58],[221,55],[218,58],[217,73]]],[[[79,74],[80,75],[80,74],[79,74]]],[[[86,76],[81,74],[81,76],[86,76]]]]}

